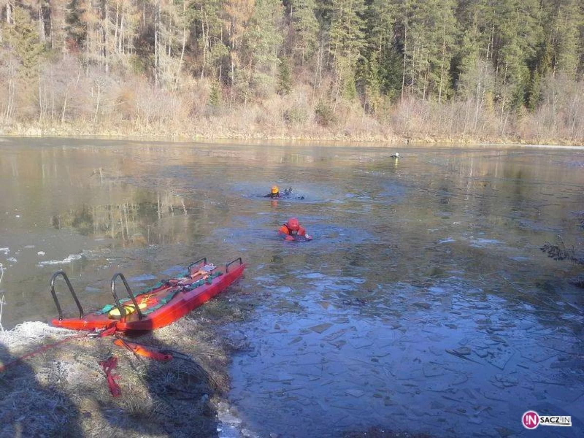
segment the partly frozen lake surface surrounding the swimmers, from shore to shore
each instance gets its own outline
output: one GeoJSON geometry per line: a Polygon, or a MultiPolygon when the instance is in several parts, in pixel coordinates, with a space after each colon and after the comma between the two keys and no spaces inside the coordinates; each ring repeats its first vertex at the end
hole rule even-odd
{"type": "Polygon", "coordinates": [[[225,330],[249,345],[230,397],[258,436],[583,436],[583,269],[540,247],[582,251],[584,151],[392,152],[4,139],[2,324],[53,317],[59,268],[95,308],[120,270],[137,288],[241,255],[219,299],[253,307],[225,330]],[[274,183],[305,199],[255,196],[274,183]],[[314,241],[276,238],[290,215],[314,241]],[[573,426],[526,430],[529,409],[573,426]]]}

